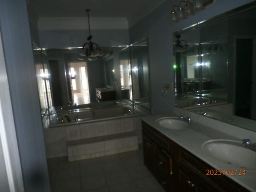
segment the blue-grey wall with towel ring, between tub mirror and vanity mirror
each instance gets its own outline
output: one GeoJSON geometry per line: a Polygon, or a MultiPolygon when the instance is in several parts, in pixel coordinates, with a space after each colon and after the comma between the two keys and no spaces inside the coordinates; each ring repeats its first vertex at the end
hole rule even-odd
{"type": "Polygon", "coordinates": [[[174,4],[180,1],[165,1],[148,16],[130,27],[130,42],[135,42],[144,37],[148,37],[149,65],[151,82],[151,102],[152,113],[170,113],[174,109],[174,90],[168,92],[166,97],[161,94],[162,87],[174,82],[173,70],[173,47],[172,34],[182,30],[192,24],[203,20],[208,20],[218,14],[232,10],[253,0],[215,0],[214,4],[196,15],[182,20],[176,24],[169,24],[169,14],[174,4]]]}

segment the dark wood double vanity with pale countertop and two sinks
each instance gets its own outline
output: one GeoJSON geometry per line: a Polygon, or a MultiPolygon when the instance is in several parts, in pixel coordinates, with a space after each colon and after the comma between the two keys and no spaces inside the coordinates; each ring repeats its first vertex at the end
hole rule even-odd
{"type": "Polygon", "coordinates": [[[243,134],[236,135],[238,127],[228,134],[230,125],[192,116],[142,118],[144,164],[163,188],[168,192],[256,192],[255,145],[242,140],[243,134]]]}

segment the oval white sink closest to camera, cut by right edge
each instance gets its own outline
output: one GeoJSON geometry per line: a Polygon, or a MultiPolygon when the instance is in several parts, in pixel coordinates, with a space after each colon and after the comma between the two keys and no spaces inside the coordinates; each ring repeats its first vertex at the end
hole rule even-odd
{"type": "Polygon", "coordinates": [[[227,164],[256,169],[256,152],[242,146],[235,140],[209,140],[204,142],[202,149],[210,156],[227,164]]]}

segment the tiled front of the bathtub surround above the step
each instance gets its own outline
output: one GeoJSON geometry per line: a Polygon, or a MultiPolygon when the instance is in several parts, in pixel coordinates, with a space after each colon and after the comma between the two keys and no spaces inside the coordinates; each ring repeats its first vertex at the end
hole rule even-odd
{"type": "Polygon", "coordinates": [[[67,142],[122,132],[135,131],[138,143],[142,143],[142,116],[118,118],[98,122],[80,123],[44,129],[47,158],[68,156],[67,142]]]}

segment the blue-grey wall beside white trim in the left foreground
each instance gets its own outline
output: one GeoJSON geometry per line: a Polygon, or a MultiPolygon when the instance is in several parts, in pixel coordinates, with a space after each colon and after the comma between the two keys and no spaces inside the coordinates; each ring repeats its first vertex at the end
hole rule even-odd
{"type": "Polygon", "coordinates": [[[0,4],[0,29],[25,191],[49,192],[26,1],[0,0],[0,4]]]}

